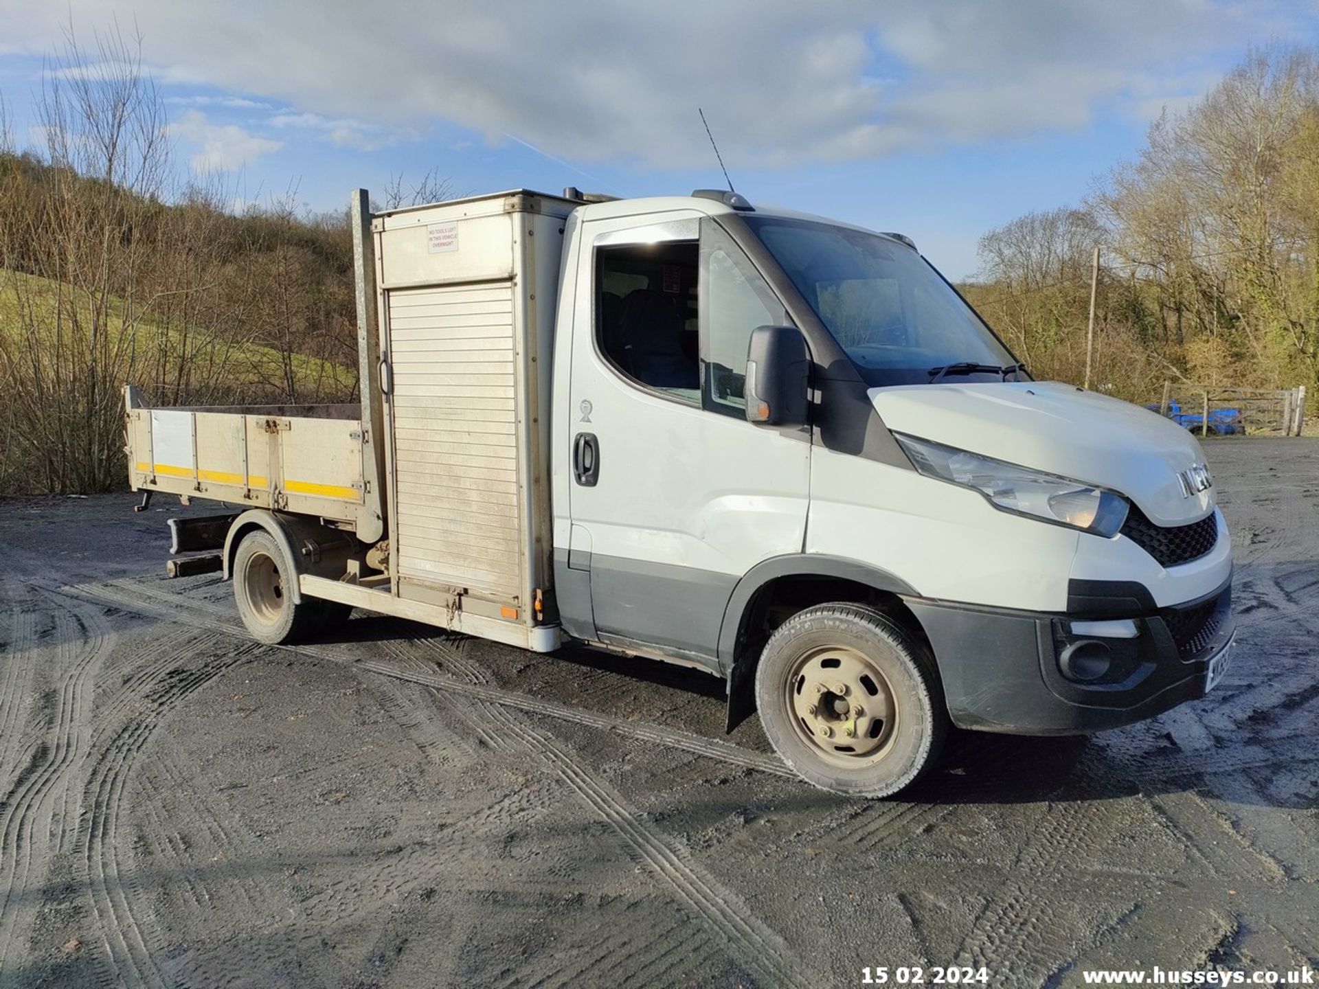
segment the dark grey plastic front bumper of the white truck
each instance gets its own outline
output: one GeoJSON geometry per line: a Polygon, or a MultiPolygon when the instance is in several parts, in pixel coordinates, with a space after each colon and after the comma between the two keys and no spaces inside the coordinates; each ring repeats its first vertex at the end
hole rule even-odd
{"type": "Polygon", "coordinates": [[[1136,622],[1136,638],[1072,634],[1071,621],[1091,620],[1093,608],[1045,614],[921,599],[907,605],[934,649],[954,724],[1013,734],[1084,734],[1203,698],[1210,661],[1236,630],[1231,576],[1175,607],[1154,608],[1136,593],[1119,613],[1108,608],[1103,617],[1136,622]],[[1075,662],[1082,654],[1087,662],[1075,662]]]}

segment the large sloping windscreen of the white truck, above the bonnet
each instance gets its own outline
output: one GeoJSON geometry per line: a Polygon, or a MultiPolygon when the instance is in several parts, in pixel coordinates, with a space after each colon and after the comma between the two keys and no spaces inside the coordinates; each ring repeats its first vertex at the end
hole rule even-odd
{"type": "Polygon", "coordinates": [[[1016,363],[975,310],[905,244],[827,223],[745,220],[867,384],[1001,381],[996,369],[1016,363]],[[955,368],[940,377],[940,371],[968,363],[988,369],[955,368]]]}

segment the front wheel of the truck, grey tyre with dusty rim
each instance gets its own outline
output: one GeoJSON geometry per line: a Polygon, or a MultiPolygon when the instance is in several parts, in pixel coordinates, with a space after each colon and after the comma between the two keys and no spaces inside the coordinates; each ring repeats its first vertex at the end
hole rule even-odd
{"type": "Polygon", "coordinates": [[[798,612],[770,637],[756,703],[774,752],[809,783],[889,796],[938,761],[948,715],[934,658],[856,604],[798,612]]]}

